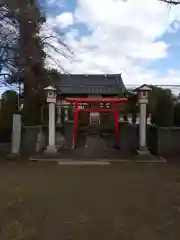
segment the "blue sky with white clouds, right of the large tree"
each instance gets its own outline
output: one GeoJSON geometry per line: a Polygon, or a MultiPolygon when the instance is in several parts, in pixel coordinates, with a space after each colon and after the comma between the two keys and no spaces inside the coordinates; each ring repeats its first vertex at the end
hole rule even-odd
{"type": "Polygon", "coordinates": [[[158,0],[41,3],[73,50],[68,60],[53,54],[68,72],[121,72],[127,84],[180,84],[180,7],[158,0]]]}

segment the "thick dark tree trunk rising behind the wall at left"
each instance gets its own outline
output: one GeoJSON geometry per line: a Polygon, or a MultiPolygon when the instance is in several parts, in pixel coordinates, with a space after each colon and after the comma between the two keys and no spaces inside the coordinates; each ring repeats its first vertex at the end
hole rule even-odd
{"type": "MultiPolygon", "coordinates": [[[[41,123],[43,98],[43,49],[38,34],[38,15],[34,5],[29,7],[25,0],[20,13],[20,68],[24,72],[24,123],[41,123]]],[[[40,12],[39,12],[40,14],[40,12]]]]}

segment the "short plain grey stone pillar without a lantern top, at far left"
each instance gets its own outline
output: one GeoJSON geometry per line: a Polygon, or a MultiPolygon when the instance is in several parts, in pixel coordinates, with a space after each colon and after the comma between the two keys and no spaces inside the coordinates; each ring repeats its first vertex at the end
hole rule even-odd
{"type": "Polygon", "coordinates": [[[13,114],[11,153],[19,154],[21,149],[21,115],[13,114]]]}

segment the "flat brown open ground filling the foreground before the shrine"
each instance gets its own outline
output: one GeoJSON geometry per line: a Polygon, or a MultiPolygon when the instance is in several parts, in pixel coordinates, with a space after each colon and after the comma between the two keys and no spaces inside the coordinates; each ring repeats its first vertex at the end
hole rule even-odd
{"type": "Polygon", "coordinates": [[[180,166],[0,164],[0,240],[178,240],[180,166]]]}

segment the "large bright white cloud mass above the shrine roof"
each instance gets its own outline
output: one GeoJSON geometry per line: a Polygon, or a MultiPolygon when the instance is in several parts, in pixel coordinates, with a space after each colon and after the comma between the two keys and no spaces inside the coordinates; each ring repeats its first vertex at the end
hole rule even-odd
{"type": "Polygon", "coordinates": [[[122,72],[125,83],[176,81],[172,72],[160,78],[148,66],[168,56],[169,43],[157,39],[172,31],[173,22],[173,30],[179,28],[179,16],[179,7],[170,9],[158,0],[77,0],[74,21],[72,13],[57,18],[64,26],[85,24],[90,34],[67,33],[74,58],[61,62],[72,73],[122,72]]]}

